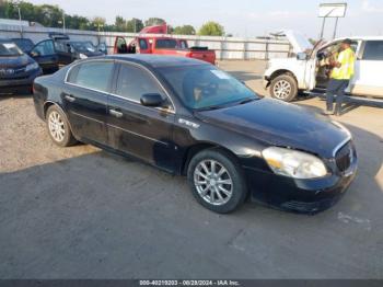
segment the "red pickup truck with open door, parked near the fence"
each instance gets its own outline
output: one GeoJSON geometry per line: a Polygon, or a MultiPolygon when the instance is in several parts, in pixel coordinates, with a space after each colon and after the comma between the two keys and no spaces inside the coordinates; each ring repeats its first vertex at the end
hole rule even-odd
{"type": "Polygon", "coordinates": [[[166,36],[138,36],[128,45],[123,36],[117,36],[114,54],[156,54],[189,57],[216,65],[216,51],[208,47],[188,47],[186,39],[166,36]]]}

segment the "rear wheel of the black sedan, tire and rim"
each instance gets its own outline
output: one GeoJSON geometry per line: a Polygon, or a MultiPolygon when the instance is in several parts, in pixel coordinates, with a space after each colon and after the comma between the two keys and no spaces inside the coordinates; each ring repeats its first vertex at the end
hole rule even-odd
{"type": "Polygon", "coordinates": [[[78,142],[70,130],[67,116],[57,106],[49,106],[46,113],[46,124],[49,137],[57,146],[70,147],[78,142]]]}

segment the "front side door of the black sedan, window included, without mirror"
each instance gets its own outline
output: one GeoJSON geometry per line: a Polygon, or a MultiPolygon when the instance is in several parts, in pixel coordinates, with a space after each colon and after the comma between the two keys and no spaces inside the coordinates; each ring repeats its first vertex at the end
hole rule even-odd
{"type": "Polygon", "coordinates": [[[108,137],[115,149],[172,171],[174,108],[154,76],[134,64],[120,64],[116,87],[108,97],[108,137]],[[140,97],[159,93],[169,108],[141,105],[140,97]]]}

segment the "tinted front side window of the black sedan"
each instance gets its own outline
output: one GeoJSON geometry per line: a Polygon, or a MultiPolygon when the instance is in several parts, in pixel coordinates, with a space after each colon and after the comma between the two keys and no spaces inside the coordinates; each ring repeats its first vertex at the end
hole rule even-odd
{"type": "Polygon", "coordinates": [[[147,93],[159,93],[166,99],[159,83],[149,72],[132,65],[121,65],[116,94],[139,102],[147,93]]]}

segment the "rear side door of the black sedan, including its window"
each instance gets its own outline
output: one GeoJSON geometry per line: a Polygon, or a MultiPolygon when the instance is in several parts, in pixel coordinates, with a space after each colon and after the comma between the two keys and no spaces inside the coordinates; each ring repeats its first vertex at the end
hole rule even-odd
{"type": "Polygon", "coordinates": [[[107,145],[107,94],[113,73],[113,60],[85,61],[68,72],[61,97],[72,130],[79,138],[107,145]]]}

